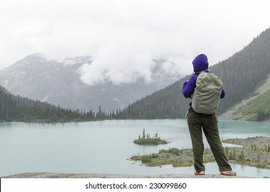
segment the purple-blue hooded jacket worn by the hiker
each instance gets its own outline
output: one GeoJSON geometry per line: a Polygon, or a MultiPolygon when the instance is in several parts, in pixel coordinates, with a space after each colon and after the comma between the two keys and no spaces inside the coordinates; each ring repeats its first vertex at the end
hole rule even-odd
{"type": "MultiPolygon", "coordinates": [[[[205,54],[200,54],[199,56],[196,56],[196,58],[194,58],[194,60],[192,61],[192,64],[193,64],[194,74],[190,77],[188,82],[183,83],[182,92],[185,98],[191,98],[192,94],[194,93],[194,89],[196,87],[196,80],[199,73],[201,73],[202,71],[209,73],[209,69],[208,69],[209,64],[208,64],[207,56],[205,56],[205,54]]],[[[221,92],[221,98],[223,97],[225,97],[224,89],[222,89],[222,92],[221,92]]]]}

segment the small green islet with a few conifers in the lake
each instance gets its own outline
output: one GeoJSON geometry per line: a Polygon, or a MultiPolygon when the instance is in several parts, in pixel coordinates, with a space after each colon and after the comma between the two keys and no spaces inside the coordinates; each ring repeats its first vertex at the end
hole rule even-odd
{"type": "Polygon", "coordinates": [[[144,130],[142,132],[142,138],[141,135],[139,135],[139,138],[135,139],[133,143],[137,145],[163,145],[167,144],[168,142],[160,139],[157,133],[155,136],[153,136],[153,138],[150,138],[150,134],[146,134],[144,130]]]}

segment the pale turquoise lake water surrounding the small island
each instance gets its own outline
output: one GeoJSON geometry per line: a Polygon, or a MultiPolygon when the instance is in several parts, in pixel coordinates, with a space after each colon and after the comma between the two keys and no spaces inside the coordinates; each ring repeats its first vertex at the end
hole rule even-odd
{"type": "MultiPolygon", "coordinates": [[[[270,123],[220,120],[221,139],[270,137],[270,123]]],[[[0,123],[0,176],[25,172],[193,174],[192,167],[146,167],[127,160],[133,155],[169,147],[191,148],[186,119],[113,120],[80,123],[0,123]],[[143,129],[157,133],[168,145],[135,145],[143,129]]],[[[205,141],[205,147],[207,142],[205,141]]],[[[270,177],[269,169],[232,165],[240,176],[270,177]]],[[[216,163],[206,173],[218,174],[216,163]]]]}

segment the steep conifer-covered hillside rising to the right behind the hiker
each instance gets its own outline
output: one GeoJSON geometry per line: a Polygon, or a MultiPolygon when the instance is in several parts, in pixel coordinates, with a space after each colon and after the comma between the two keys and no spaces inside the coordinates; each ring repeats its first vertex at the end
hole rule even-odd
{"type": "MultiPolygon", "coordinates": [[[[224,83],[226,95],[218,108],[218,114],[221,114],[250,97],[267,79],[270,73],[270,29],[262,32],[232,57],[210,67],[210,71],[220,76],[224,83]]],[[[182,95],[182,84],[188,77],[131,104],[120,112],[118,118],[183,118],[189,100],[182,95]]]]}

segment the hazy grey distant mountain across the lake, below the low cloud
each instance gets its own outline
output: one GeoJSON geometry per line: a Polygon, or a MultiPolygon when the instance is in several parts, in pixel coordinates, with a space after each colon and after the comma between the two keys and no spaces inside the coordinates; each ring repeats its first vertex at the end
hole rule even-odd
{"type": "Polygon", "coordinates": [[[91,65],[90,56],[56,61],[45,53],[32,53],[0,71],[0,84],[14,95],[46,101],[64,108],[97,112],[124,108],[137,99],[175,82],[179,74],[163,71],[166,59],[154,60],[153,82],[138,81],[115,85],[110,82],[89,86],[80,80],[80,69],[91,65]]]}

